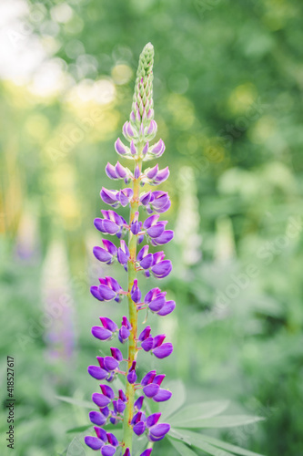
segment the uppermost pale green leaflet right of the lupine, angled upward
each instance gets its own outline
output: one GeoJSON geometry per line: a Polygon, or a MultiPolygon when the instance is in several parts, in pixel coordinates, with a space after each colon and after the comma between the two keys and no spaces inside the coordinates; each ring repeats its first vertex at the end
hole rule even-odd
{"type": "Polygon", "coordinates": [[[189,405],[175,413],[170,419],[172,426],[184,428],[185,424],[189,422],[191,426],[197,420],[214,417],[227,409],[229,405],[228,400],[209,400],[207,402],[200,402],[199,404],[189,405]]]}

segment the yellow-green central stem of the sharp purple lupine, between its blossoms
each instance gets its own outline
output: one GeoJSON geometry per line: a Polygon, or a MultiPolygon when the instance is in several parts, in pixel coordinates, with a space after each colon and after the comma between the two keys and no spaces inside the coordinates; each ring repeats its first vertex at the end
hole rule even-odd
{"type": "MultiPolygon", "coordinates": [[[[140,157],[141,151],[143,146],[140,144],[137,146],[138,156],[140,157]]],[[[139,166],[141,171],[142,166],[142,159],[136,159],[135,161],[135,169],[136,165],[139,166]]],[[[132,202],[130,203],[130,217],[129,217],[129,224],[132,223],[135,213],[138,211],[139,208],[139,191],[140,191],[140,180],[134,179],[133,181],[133,191],[134,196],[132,202]]],[[[129,231],[129,238],[128,238],[128,250],[130,254],[130,258],[127,264],[128,267],[128,314],[129,314],[129,322],[132,326],[130,331],[130,336],[128,337],[128,366],[127,370],[131,367],[133,361],[136,359],[137,354],[137,347],[136,347],[136,337],[137,337],[137,309],[136,305],[132,301],[130,297],[130,290],[134,285],[134,280],[136,279],[136,235],[129,231]]],[[[135,403],[135,385],[131,385],[126,381],[126,409],[124,412],[124,423],[123,423],[123,447],[129,448],[129,451],[132,451],[132,442],[133,442],[133,430],[131,427],[131,420],[133,419],[134,413],[134,403],[135,403]]]]}

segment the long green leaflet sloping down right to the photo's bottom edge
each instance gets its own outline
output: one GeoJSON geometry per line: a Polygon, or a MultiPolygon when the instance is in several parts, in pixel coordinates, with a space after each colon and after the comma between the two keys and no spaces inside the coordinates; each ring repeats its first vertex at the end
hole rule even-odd
{"type": "MultiPolygon", "coordinates": [[[[173,440],[182,440],[186,442],[187,445],[199,448],[211,454],[213,456],[234,456],[235,454],[240,456],[263,456],[262,454],[255,453],[254,451],[248,451],[244,448],[237,447],[236,445],[231,445],[225,441],[214,439],[205,434],[198,434],[197,432],[192,432],[190,430],[174,430],[169,431],[169,440],[172,443],[173,440]]],[[[182,443],[183,446],[184,443],[182,443]]]]}

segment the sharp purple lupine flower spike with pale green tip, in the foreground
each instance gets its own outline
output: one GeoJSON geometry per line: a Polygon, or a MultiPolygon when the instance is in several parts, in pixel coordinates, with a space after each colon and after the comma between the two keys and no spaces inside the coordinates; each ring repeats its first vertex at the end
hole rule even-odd
{"type": "MultiPolygon", "coordinates": [[[[115,260],[126,270],[127,289],[114,277],[99,278],[99,285],[91,287],[91,293],[98,301],[116,301],[128,308],[121,325],[112,319],[100,316],[100,326],[92,327],[92,335],[101,341],[116,337],[116,343],[127,344],[127,358],[124,359],[119,347],[111,347],[110,354],[96,357],[96,366],[89,366],[88,373],[101,380],[100,391],[95,392],[92,400],[95,409],[90,411],[89,419],[94,424],[95,435],[86,436],[86,445],[101,451],[103,456],[122,454],[139,456],[133,451],[133,440],[146,433],[146,450],[140,456],[149,456],[153,442],[162,440],[170,429],[169,424],[161,422],[161,413],[147,413],[146,401],[162,402],[170,399],[171,392],[162,388],[165,374],[150,370],[143,378],[137,376],[138,353],[150,352],[159,359],[167,358],[173,346],[167,342],[166,335],[152,336],[152,328],[145,326],[138,334],[137,317],[140,310],[167,316],[176,304],[166,298],[166,292],[155,287],[142,295],[139,280],[153,275],[161,279],[169,275],[172,264],[165,259],[163,251],[152,253],[149,246],[157,247],[172,240],[174,233],[167,230],[167,222],[161,221],[160,214],[170,207],[167,192],[141,192],[145,184],[157,186],[167,180],[168,167],[162,170],[158,165],[144,167],[146,161],[161,157],[165,150],[163,140],[152,144],[157,134],[157,123],[153,109],[153,61],[154,47],[148,43],[144,47],[136,72],[136,85],[129,121],[123,126],[126,141],[116,140],[115,149],[119,160],[132,161],[129,170],[119,161],[116,165],[107,163],[106,175],[114,180],[122,180],[126,188],[108,190],[102,188],[101,199],[112,209],[102,210],[102,218],[95,219],[96,229],[103,235],[116,236],[119,246],[108,239],[101,239],[93,253],[97,260],[112,264],[115,260]],[[128,142],[129,145],[126,145],[128,142]],[[129,220],[116,212],[119,206],[129,207],[129,220]],[[144,220],[143,213],[146,213],[144,220]],[[125,239],[126,240],[125,240],[125,239]],[[128,243],[126,241],[128,239],[128,243]],[[125,378],[125,390],[115,389],[115,378],[125,378]],[[111,386],[109,386],[111,385],[111,386]],[[123,422],[123,438],[117,440],[115,433],[106,431],[106,424],[116,425],[123,422]]],[[[121,346],[120,346],[121,347],[121,346]]]]}

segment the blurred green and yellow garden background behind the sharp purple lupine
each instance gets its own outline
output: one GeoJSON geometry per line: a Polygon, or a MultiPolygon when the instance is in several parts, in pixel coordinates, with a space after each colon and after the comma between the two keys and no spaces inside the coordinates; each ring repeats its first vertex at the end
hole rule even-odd
{"type": "MultiPolygon", "coordinates": [[[[87,425],[88,410],[56,396],[90,398],[90,326],[125,312],[89,294],[107,272],[91,254],[93,219],[105,208],[101,187],[115,188],[104,168],[116,162],[137,58],[151,41],[176,229],[162,286],[177,310],[152,318],[175,345],[167,377],[184,381],[188,402],[231,399],[229,411],[266,418],[213,435],[301,456],[303,5],[6,0],[0,13],[1,454],[93,454],[82,433],[66,433],[87,425]]],[[[154,453],[176,452],[163,442],[154,453]]]]}

